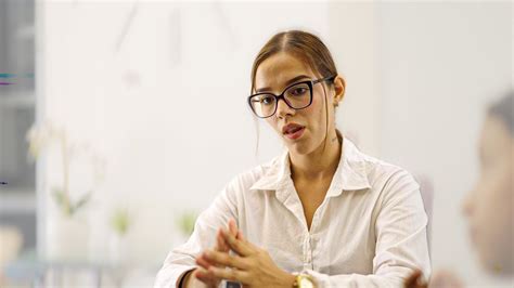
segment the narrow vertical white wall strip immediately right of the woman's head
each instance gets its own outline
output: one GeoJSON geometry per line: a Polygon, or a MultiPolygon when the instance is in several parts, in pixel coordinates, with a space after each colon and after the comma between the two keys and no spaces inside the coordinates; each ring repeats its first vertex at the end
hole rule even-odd
{"type": "Polygon", "coordinates": [[[337,112],[337,126],[363,152],[380,155],[380,91],[376,4],[371,1],[333,1],[329,10],[327,47],[346,79],[337,112]]]}

